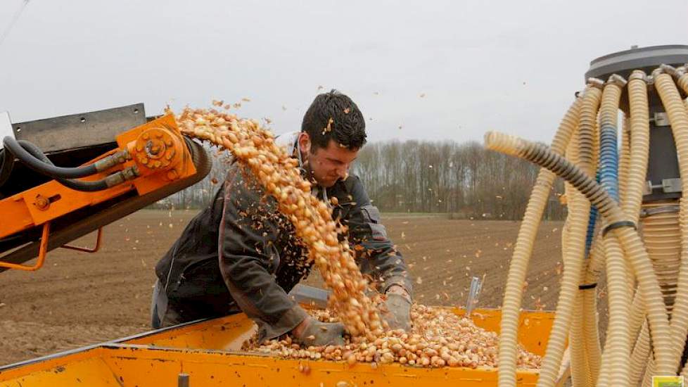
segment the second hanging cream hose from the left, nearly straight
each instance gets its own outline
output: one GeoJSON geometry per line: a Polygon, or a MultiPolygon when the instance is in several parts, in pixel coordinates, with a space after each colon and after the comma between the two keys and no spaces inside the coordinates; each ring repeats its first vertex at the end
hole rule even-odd
{"type": "MultiPolygon", "coordinates": [[[[578,160],[580,171],[587,177],[595,175],[595,127],[597,125],[597,110],[599,108],[601,90],[597,87],[588,88],[582,96],[580,106],[580,120],[578,122],[578,160]]],[[[561,156],[559,156],[561,158],[561,156]]],[[[562,158],[563,159],[563,158],[562,158]]],[[[575,185],[574,185],[575,186],[575,185]]],[[[575,187],[578,188],[578,187],[575,187]]],[[[579,190],[580,191],[580,190],[579,190]]],[[[556,303],[554,324],[547,341],[547,350],[540,367],[540,377],[537,386],[554,386],[563,351],[566,349],[566,338],[573,319],[573,304],[575,303],[578,285],[583,267],[585,253],[585,235],[589,219],[590,201],[580,195],[573,195],[571,210],[567,217],[570,225],[568,229],[568,243],[563,250],[564,269],[561,278],[559,298],[556,303]]],[[[573,363],[572,363],[573,364],[573,363]]]]}

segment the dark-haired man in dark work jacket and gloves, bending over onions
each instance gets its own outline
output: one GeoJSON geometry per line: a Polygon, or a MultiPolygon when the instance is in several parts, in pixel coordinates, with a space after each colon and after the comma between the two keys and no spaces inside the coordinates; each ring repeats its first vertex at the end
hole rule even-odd
{"type": "MultiPolygon", "coordinates": [[[[312,194],[348,228],[362,273],[387,295],[383,318],[393,329],[409,329],[407,266],[360,180],[348,175],[366,141],[356,104],[338,91],[320,94],[305,113],[301,132],[277,141],[299,160],[312,194]]],[[[342,324],[312,319],[287,294],[310,269],[307,249],[275,199],[248,167],[233,163],[215,200],[155,266],[153,328],[243,311],[257,323],[260,342],[291,332],[307,345],[341,344],[342,324]]]]}

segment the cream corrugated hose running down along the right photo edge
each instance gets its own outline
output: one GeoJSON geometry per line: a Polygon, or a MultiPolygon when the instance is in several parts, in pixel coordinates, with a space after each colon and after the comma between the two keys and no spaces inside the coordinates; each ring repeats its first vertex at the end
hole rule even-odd
{"type": "MultiPolygon", "coordinates": [[[[681,189],[688,193],[688,111],[686,110],[679,91],[668,74],[654,72],[655,88],[659,94],[664,109],[669,117],[671,130],[676,144],[676,154],[681,174],[681,189]]],[[[688,241],[688,201],[680,201],[680,230],[682,241],[688,241]]],[[[688,243],[681,246],[681,269],[679,274],[679,292],[674,307],[671,324],[671,338],[673,350],[673,364],[679,367],[683,347],[688,334],[688,243]],[[682,293],[681,293],[682,292],[682,293]]]]}

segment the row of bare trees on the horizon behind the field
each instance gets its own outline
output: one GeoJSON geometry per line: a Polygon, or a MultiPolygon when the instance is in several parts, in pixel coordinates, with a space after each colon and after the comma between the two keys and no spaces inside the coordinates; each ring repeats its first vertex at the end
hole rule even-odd
{"type": "MultiPolygon", "coordinates": [[[[224,180],[227,153],[210,149],[212,171],[198,184],[160,201],[158,208],[200,208],[224,180]]],[[[476,142],[386,141],[360,151],[352,172],[383,212],[440,212],[459,219],[520,220],[537,167],[486,151],[476,142]]],[[[561,183],[555,186],[561,192],[561,183]]],[[[550,196],[545,217],[563,219],[565,208],[550,196]]]]}

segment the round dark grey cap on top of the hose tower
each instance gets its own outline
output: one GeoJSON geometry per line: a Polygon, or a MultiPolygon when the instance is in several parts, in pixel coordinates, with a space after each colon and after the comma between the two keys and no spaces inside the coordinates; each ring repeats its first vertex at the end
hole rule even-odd
{"type": "Polygon", "coordinates": [[[649,72],[661,64],[684,65],[685,63],[688,63],[688,46],[671,44],[642,47],[594,59],[590,62],[590,69],[585,73],[585,79],[595,77],[606,80],[612,74],[628,78],[632,70],[649,72]]]}

